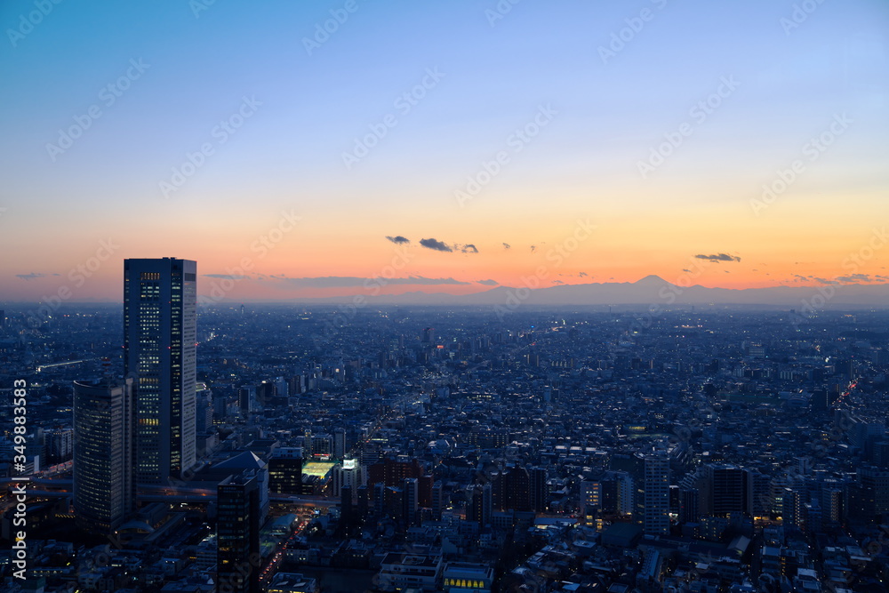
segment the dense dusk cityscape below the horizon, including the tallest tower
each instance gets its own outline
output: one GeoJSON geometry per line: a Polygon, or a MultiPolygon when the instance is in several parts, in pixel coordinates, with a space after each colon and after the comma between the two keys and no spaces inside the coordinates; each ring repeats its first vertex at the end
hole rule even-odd
{"type": "Polygon", "coordinates": [[[4,590],[886,590],[889,311],[209,306],[194,265],[0,315],[4,590]]]}

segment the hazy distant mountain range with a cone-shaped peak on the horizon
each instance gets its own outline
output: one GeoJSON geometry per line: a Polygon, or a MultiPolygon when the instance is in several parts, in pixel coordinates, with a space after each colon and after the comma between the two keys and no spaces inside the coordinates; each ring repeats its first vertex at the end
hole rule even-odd
{"type": "MultiPolygon", "coordinates": [[[[302,303],[346,303],[352,296],[297,299],[302,303]]],[[[637,282],[565,284],[547,288],[497,286],[472,294],[447,292],[404,292],[397,295],[364,296],[369,305],[448,305],[517,307],[614,306],[614,305],[741,305],[788,309],[885,308],[889,307],[889,284],[830,284],[824,286],[773,286],[769,288],[708,288],[695,284],[680,287],[660,276],[645,276],[637,282]]]]}

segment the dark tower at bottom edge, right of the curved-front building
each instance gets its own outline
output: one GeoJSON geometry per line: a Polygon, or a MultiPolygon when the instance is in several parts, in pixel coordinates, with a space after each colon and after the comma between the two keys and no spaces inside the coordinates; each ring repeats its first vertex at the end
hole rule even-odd
{"type": "Polygon", "coordinates": [[[260,485],[246,470],[216,487],[216,582],[220,591],[259,593],[260,485]]]}

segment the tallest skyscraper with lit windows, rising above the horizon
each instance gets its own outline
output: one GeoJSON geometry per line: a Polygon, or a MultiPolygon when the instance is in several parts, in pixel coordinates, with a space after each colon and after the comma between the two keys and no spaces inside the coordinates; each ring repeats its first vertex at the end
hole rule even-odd
{"type": "Polygon", "coordinates": [[[137,484],[196,461],[196,274],[192,260],[124,260],[124,373],[137,378],[137,484]]]}

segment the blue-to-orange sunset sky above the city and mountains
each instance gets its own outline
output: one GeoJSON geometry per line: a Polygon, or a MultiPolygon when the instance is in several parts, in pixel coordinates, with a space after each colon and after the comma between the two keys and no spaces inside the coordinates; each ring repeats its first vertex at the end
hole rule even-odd
{"type": "Polygon", "coordinates": [[[513,2],[0,4],[0,302],[889,281],[885,0],[513,2]]]}

